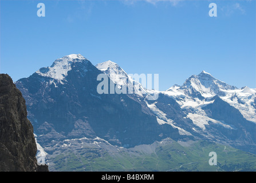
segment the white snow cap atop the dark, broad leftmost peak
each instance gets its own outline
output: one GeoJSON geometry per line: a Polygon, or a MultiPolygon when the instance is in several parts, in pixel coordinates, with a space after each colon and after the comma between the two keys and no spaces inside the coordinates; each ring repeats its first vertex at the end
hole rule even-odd
{"type": "Polygon", "coordinates": [[[72,70],[72,63],[88,62],[81,54],[70,54],[62,58],[56,59],[50,67],[42,67],[36,73],[44,77],[62,80],[68,75],[68,71],[72,70]]]}

